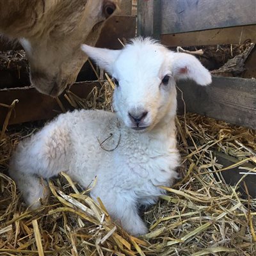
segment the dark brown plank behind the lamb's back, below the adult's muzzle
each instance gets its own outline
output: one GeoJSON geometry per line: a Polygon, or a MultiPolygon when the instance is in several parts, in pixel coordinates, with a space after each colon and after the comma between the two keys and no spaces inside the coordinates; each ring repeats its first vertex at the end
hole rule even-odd
{"type": "MultiPolygon", "coordinates": [[[[76,93],[77,96],[85,98],[92,88],[98,83],[82,82],[74,84],[70,91],[76,93]]],[[[61,112],[60,106],[56,99],[39,93],[33,87],[12,88],[8,90],[0,90],[0,102],[10,105],[13,100],[18,99],[19,102],[15,106],[10,118],[9,124],[21,124],[35,120],[45,120],[56,116],[61,112]]],[[[67,108],[71,108],[64,97],[60,97],[61,102],[67,108]]],[[[0,106],[0,125],[4,123],[4,119],[8,112],[8,108],[0,106]]]]}

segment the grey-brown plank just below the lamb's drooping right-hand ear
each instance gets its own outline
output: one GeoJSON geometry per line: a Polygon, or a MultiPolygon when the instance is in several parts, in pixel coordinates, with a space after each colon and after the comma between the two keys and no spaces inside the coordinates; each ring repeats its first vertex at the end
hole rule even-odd
{"type": "MultiPolygon", "coordinates": [[[[209,86],[198,86],[192,81],[180,81],[177,86],[183,92],[186,112],[256,129],[255,79],[212,77],[209,86]]],[[[178,106],[179,113],[184,113],[179,90],[178,106]]]]}

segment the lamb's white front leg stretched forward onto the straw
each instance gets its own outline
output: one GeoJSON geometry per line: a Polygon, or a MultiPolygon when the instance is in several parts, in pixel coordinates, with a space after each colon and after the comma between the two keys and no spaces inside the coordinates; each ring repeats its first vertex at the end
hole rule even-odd
{"type": "MultiPolygon", "coordinates": [[[[132,236],[141,236],[147,234],[148,228],[141,220],[138,214],[138,205],[129,193],[106,193],[100,196],[104,206],[118,225],[124,228],[132,236]],[[107,195],[106,195],[107,194],[107,195]]],[[[92,193],[92,197],[96,199],[98,196],[92,193]]]]}

